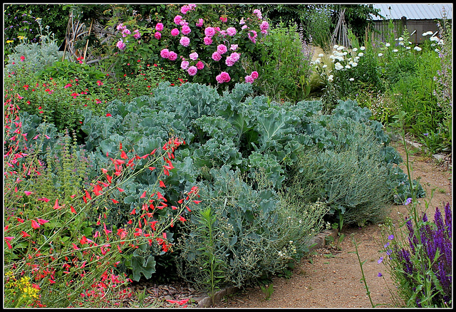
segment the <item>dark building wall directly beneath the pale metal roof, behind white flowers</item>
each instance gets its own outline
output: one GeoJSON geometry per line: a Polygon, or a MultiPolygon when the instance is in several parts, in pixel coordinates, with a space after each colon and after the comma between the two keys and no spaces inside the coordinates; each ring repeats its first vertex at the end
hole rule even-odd
{"type": "MultiPolygon", "coordinates": [[[[395,19],[393,20],[393,24],[395,26],[395,38],[398,38],[403,33],[403,20],[395,19]]],[[[435,31],[439,30],[437,27],[437,21],[430,19],[408,19],[405,20],[405,24],[409,35],[415,31],[415,33],[413,33],[413,35],[409,38],[409,41],[414,44],[422,43],[423,40],[428,40],[430,38],[430,36],[423,38],[423,33],[427,31],[435,33],[435,31]]],[[[374,21],[372,35],[374,39],[385,41],[388,33],[388,21],[374,21]]]]}

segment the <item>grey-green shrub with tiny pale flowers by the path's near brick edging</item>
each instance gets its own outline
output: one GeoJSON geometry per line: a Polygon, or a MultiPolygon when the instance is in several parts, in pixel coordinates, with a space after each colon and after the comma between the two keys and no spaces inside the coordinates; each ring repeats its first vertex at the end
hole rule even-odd
{"type": "MultiPolygon", "coordinates": [[[[309,239],[321,228],[327,207],[322,203],[303,204],[293,194],[274,192],[266,175],[257,172],[248,184],[237,170],[226,166],[211,170],[212,184],[200,189],[202,206],[217,216],[214,253],[224,280],[220,284],[248,285],[261,276],[271,276],[287,268],[291,259],[301,259],[309,239]]],[[[199,246],[207,241],[201,222],[192,217],[179,241],[179,273],[202,286],[207,279],[206,259],[199,246]]]]}

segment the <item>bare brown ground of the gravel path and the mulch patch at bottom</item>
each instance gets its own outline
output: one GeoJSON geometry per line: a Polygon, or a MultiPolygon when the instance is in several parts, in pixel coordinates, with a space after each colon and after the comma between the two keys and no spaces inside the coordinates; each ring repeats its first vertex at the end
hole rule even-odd
{"type": "MultiPolygon", "coordinates": [[[[405,161],[402,145],[393,143],[405,161]]],[[[451,157],[451,155],[450,155],[451,157]]],[[[447,202],[452,203],[452,162],[451,159],[436,162],[432,157],[425,157],[417,149],[411,148],[410,163],[413,166],[413,179],[420,177],[420,183],[427,196],[420,199],[420,210],[425,210],[428,203],[427,215],[433,219],[435,207],[441,209],[447,202]],[[434,191],[432,192],[432,189],[434,191]],[[430,194],[433,193],[432,199],[430,194]]],[[[405,165],[401,166],[406,172],[405,165]]],[[[395,222],[402,221],[408,215],[408,206],[392,205],[390,218],[395,222]]],[[[340,234],[344,238],[339,244],[328,244],[324,249],[316,249],[313,253],[301,259],[296,264],[291,278],[274,277],[272,279],[273,293],[269,299],[259,286],[244,288],[232,295],[224,296],[216,303],[215,308],[371,308],[371,301],[366,295],[366,288],[361,281],[361,269],[352,235],[358,243],[358,254],[363,264],[369,291],[373,304],[379,307],[394,307],[391,293],[395,286],[383,264],[378,259],[384,242],[381,227],[378,224],[368,224],[366,227],[345,227],[340,234]],[[383,274],[378,277],[378,273],[383,274]]],[[[155,285],[150,282],[134,285],[134,292],[144,289],[145,299],[142,304],[135,297],[124,301],[123,306],[161,306],[196,307],[197,301],[192,300],[201,296],[191,286],[185,283],[155,285]],[[187,303],[179,305],[167,300],[182,300],[190,298],[187,303]]]]}

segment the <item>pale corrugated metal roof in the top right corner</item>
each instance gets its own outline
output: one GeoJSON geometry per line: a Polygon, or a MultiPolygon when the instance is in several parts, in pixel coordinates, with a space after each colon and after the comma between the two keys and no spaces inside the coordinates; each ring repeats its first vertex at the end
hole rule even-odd
{"type": "MultiPolygon", "coordinates": [[[[447,19],[452,19],[452,4],[373,4],[374,9],[380,9],[380,15],[385,19],[442,19],[442,9],[445,7],[447,19]]],[[[381,17],[373,16],[374,21],[381,17]]]]}

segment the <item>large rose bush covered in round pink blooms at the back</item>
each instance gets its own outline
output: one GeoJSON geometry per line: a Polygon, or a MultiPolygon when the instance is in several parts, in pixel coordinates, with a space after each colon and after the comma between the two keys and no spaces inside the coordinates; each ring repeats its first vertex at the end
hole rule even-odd
{"type": "Polygon", "coordinates": [[[130,44],[139,49],[140,38],[152,38],[155,40],[152,50],[156,55],[171,62],[180,58],[175,66],[186,71],[192,77],[191,81],[239,83],[245,80],[253,83],[258,78],[257,72],[246,76],[240,60],[254,53],[252,45],[262,43],[267,35],[269,22],[263,20],[261,11],[255,9],[240,20],[230,14],[211,20],[207,17],[210,15],[204,14],[204,6],[187,4],[177,8],[170,6],[170,9],[175,14],[172,21],[157,19],[155,26],[149,29],[138,27],[133,35],[127,26],[118,24],[118,33],[123,36],[116,45],[118,49],[123,53],[132,51],[126,49],[130,44]],[[150,36],[143,36],[144,33],[150,33],[150,36]],[[128,40],[129,36],[134,36],[135,41],[128,40]]]}

